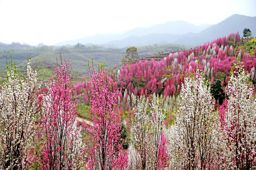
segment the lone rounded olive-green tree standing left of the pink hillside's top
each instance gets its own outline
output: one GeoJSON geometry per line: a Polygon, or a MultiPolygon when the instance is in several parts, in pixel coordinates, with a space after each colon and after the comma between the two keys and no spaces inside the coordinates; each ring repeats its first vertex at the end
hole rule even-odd
{"type": "Polygon", "coordinates": [[[123,64],[133,64],[136,63],[139,59],[137,48],[135,46],[132,46],[126,50],[126,54],[124,58],[122,59],[123,64]]]}

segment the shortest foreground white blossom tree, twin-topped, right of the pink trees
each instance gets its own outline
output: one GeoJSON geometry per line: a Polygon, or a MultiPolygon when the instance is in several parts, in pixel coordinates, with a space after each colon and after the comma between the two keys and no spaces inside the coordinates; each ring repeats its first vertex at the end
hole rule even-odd
{"type": "Polygon", "coordinates": [[[129,146],[129,169],[160,170],[168,166],[165,139],[165,112],[163,99],[152,100],[148,106],[145,97],[137,98],[134,110],[132,143],[129,146]],[[151,116],[151,118],[150,118],[151,116]]]}

